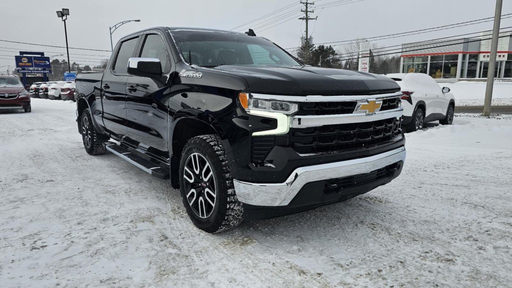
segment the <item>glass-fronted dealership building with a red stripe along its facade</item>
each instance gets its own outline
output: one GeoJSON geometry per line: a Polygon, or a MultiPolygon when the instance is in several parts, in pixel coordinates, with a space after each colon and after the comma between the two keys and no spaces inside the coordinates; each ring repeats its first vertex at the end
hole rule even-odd
{"type": "MultiPolygon", "coordinates": [[[[485,79],[489,73],[491,32],[478,38],[402,44],[402,73],[424,73],[439,82],[485,79]]],[[[496,78],[512,78],[511,32],[500,33],[496,78]]]]}

